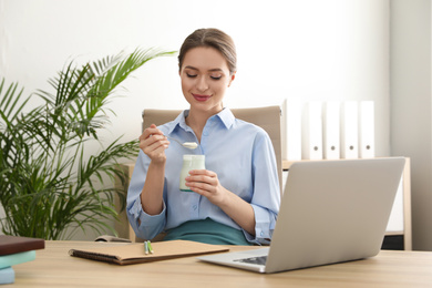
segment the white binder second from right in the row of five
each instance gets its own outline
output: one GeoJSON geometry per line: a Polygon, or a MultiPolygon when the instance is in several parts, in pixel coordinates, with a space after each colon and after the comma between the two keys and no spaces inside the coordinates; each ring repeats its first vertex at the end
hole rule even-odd
{"type": "Polygon", "coordinates": [[[340,110],[340,156],[359,157],[359,105],[356,101],[346,101],[340,110]]]}

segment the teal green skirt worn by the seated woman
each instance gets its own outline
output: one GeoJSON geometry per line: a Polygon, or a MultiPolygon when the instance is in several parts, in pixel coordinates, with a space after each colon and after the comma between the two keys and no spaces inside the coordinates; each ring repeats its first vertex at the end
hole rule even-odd
{"type": "Polygon", "coordinates": [[[241,230],[206,218],[168,229],[164,240],[192,240],[215,245],[251,245],[241,230]]]}

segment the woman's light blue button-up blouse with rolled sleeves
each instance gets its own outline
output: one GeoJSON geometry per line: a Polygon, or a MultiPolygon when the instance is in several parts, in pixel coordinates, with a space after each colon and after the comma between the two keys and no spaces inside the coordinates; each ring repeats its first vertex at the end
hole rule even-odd
{"type": "MultiPolygon", "coordinates": [[[[196,142],[186,125],[188,111],[158,128],[182,142],[196,142]]],[[[203,130],[198,148],[188,150],[172,141],[165,151],[164,209],[160,215],[146,214],[141,205],[150,158],[140,151],[127,193],[127,217],[140,238],[152,239],[165,229],[188,220],[210,218],[243,230],[219,207],[196,193],[179,191],[179,174],[184,154],[204,154],[206,168],[217,174],[220,184],[250,203],[255,212],[255,236],[243,230],[246,239],[268,244],[275,229],[280,205],[275,152],[268,134],[251,123],[235,119],[224,109],[209,117],[203,130]]]]}

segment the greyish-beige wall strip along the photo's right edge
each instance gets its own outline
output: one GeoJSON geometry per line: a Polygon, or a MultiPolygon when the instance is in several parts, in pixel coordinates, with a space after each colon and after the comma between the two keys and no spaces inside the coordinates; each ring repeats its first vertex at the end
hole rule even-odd
{"type": "Polygon", "coordinates": [[[430,0],[391,1],[391,143],[411,157],[414,249],[432,250],[430,0]]]}

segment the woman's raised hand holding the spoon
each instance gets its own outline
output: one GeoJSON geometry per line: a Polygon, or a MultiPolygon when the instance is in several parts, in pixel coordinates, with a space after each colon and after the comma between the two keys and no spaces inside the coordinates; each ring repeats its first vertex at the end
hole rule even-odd
{"type": "Polygon", "coordinates": [[[165,150],[168,145],[169,141],[155,124],[152,124],[150,127],[144,130],[143,134],[140,136],[140,148],[154,163],[165,163],[165,150]]]}

